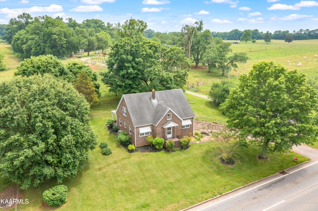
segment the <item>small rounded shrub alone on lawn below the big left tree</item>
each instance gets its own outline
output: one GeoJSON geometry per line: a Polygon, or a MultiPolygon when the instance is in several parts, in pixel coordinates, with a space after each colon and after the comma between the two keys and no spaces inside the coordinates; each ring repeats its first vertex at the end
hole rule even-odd
{"type": "Polygon", "coordinates": [[[66,203],[68,187],[66,185],[57,185],[43,192],[43,200],[52,207],[59,207],[66,203]]]}

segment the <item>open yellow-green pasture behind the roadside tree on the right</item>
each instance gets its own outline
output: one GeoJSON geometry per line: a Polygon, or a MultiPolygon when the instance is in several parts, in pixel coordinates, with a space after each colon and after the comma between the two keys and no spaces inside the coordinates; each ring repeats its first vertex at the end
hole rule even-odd
{"type": "MultiPolygon", "coordinates": [[[[225,41],[232,42],[232,41],[225,41]]],[[[288,70],[297,69],[304,73],[308,78],[318,80],[318,40],[295,40],[292,43],[286,43],[283,40],[272,40],[266,44],[263,40],[257,40],[255,44],[251,42],[232,44],[233,53],[245,52],[249,59],[246,63],[239,63],[236,70],[231,70],[230,80],[237,83],[241,74],[248,74],[254,63],[259,61],[273,61],[275,64],[281,64],[288,70]],[[304,56],[309,59],[304,59],[304,56]],[[315,61],[316,59],[316,61],[315,61]],[[289,64],[287,61],[290,61],[289,64]],[[302,66],[297,63],[301,62],[302,66]]],[[[221,80],[228,80],[228,73],[225,76],[221,72],[207,72],[207,67],[195,69],[189,72],[189,84],[197,84],[198,81],[207,81],[208,85],[199,86],[199,92],[205,95],[209,94],[211,84],[221,80]]]]}

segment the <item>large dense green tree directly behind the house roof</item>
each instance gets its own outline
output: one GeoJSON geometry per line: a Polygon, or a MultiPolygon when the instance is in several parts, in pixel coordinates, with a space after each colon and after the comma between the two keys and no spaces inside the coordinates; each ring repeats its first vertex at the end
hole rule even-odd
{"type": "Polygon", "coordinates": [[[180,48],[129,37],[112,46],[107,66],[103,83],[122,94],[182,88],[190,69],[180,48]]]}

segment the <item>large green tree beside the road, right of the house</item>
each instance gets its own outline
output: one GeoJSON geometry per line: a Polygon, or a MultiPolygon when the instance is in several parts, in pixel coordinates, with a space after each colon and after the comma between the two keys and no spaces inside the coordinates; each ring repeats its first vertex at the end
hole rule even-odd
{"type": "Polygon", "coordinates": [[[223,109],[229,116],[229,127],[239,136],[262,149],[285,152],[293,145],[312,143],[318,135],[317,90],[306,83],[305,75],[287,71],[273,62],[254,64],[248,75],[239,77],[223,109]]]}

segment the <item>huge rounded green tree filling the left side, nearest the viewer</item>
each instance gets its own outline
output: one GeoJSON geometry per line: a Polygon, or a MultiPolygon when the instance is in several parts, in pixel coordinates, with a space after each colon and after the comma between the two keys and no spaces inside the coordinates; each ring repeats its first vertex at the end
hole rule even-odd
{"type": "Polygon", "coordinates": [[[95,148],[89,105],[54,76],[15,77],[0,84],[0,176],[21,189],[75,176],[95,148]]]}

